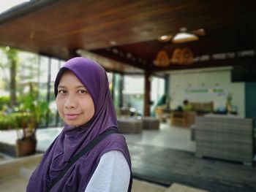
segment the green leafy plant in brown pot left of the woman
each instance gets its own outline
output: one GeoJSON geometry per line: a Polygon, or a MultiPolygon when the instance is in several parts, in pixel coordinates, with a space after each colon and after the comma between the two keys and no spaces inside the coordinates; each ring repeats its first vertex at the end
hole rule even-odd
{"type": "Polygon", "coordinates": [[[48,103],[39,101],[37,93],[31,88],[29,96],[23,97],[23,104],[20,106],[20,110],[23,111],[23,117],[17,121],[21,125],[22,131],[18,133],[16,155],[34,154],[37,147],[37,127],[49,112],[48,103]]]}

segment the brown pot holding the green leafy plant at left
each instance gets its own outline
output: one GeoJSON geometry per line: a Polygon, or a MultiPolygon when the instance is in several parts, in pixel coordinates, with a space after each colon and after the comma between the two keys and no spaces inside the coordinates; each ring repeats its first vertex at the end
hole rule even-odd
{"type": "Polygon", "coordinates": [[[25,156],[36,153],[36,139],[22,139],[16,141],[16,156],[25,156]]]}

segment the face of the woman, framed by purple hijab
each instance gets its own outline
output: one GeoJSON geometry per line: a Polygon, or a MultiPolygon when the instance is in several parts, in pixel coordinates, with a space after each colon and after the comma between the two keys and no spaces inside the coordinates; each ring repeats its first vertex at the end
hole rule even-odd
{"type": "Polygon", "coordinates": [[[83,126],[94,116],[94,101],[82,82],[70,71],[64,72],[58,85],[56,105],[69,126],[83,126]]]}

